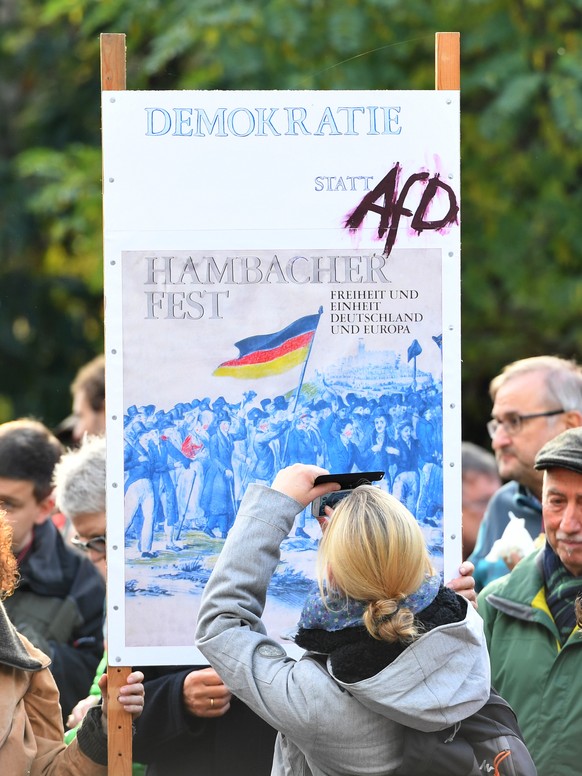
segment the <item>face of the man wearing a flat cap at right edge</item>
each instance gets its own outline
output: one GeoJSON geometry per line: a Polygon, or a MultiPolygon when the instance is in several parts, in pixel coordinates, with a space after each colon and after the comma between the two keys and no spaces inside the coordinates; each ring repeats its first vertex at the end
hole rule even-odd
{"type": "Polygon", "coordinates": [[[548,469],[542,507],[548,542],[568,571],[582,576],[582,474],[548,469]]]}

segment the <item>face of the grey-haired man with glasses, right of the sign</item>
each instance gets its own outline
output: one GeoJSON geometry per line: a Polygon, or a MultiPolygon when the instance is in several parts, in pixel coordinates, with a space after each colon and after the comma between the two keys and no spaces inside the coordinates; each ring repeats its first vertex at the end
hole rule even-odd
{"type": "MultiPolygon", "coordinates": [[[[530,415],[560,409],[545,400],[545,379],[541,372],[519,375],[502,385],[495,396],[491,417],[503,421],[511,415],[530,415]]],[[[530,418],[510,436],[500,425],[491,441],[499,474],[504,480],[517,480],[539,494],[541,472],[533,468],[539,450],[568,427],[566,415],[530,418]]]]}

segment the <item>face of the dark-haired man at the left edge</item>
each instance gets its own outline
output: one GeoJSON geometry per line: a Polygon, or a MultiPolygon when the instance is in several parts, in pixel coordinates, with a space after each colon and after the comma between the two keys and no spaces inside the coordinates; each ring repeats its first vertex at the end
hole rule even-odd
{"type": "Polygon", "coordinates": [[[9,480],[0,477],[0,509],[12,526],[12,549],[20,552],[32,539],[32,529],[48,519],[54,499],[48,496],[37,501],[34,484],[29,480],[9,480]]]}

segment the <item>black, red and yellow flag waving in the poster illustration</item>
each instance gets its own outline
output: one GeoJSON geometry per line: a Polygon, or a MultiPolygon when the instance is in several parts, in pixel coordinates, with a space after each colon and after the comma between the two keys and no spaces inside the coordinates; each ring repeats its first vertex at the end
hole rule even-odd
{"type": "Polygon", "coordinates": [[[279,375],[302,364],[309,355],[320,313],[299,318],[274,334],[258,334],[235,342],[238,358],[212,373],[218,377],[257,378],[279,375]]]}

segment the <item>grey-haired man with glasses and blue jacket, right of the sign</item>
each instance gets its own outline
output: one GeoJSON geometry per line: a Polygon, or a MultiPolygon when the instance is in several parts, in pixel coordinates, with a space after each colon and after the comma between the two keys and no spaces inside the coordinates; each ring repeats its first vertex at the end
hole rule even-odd
{"type": "Polygon", "coordinates": [[[542,473],[534,461],[546,442],[582,425],[582,368],[557,356],[520,359],[493,378],[489,394],[493,408],[487,430],[505,485],[491,498],[469,557],[477,591],[521,559],[518,548],[503,558],[487,558],[512,516],[525,520],[532,539],[543,532],[542,473]]]}

